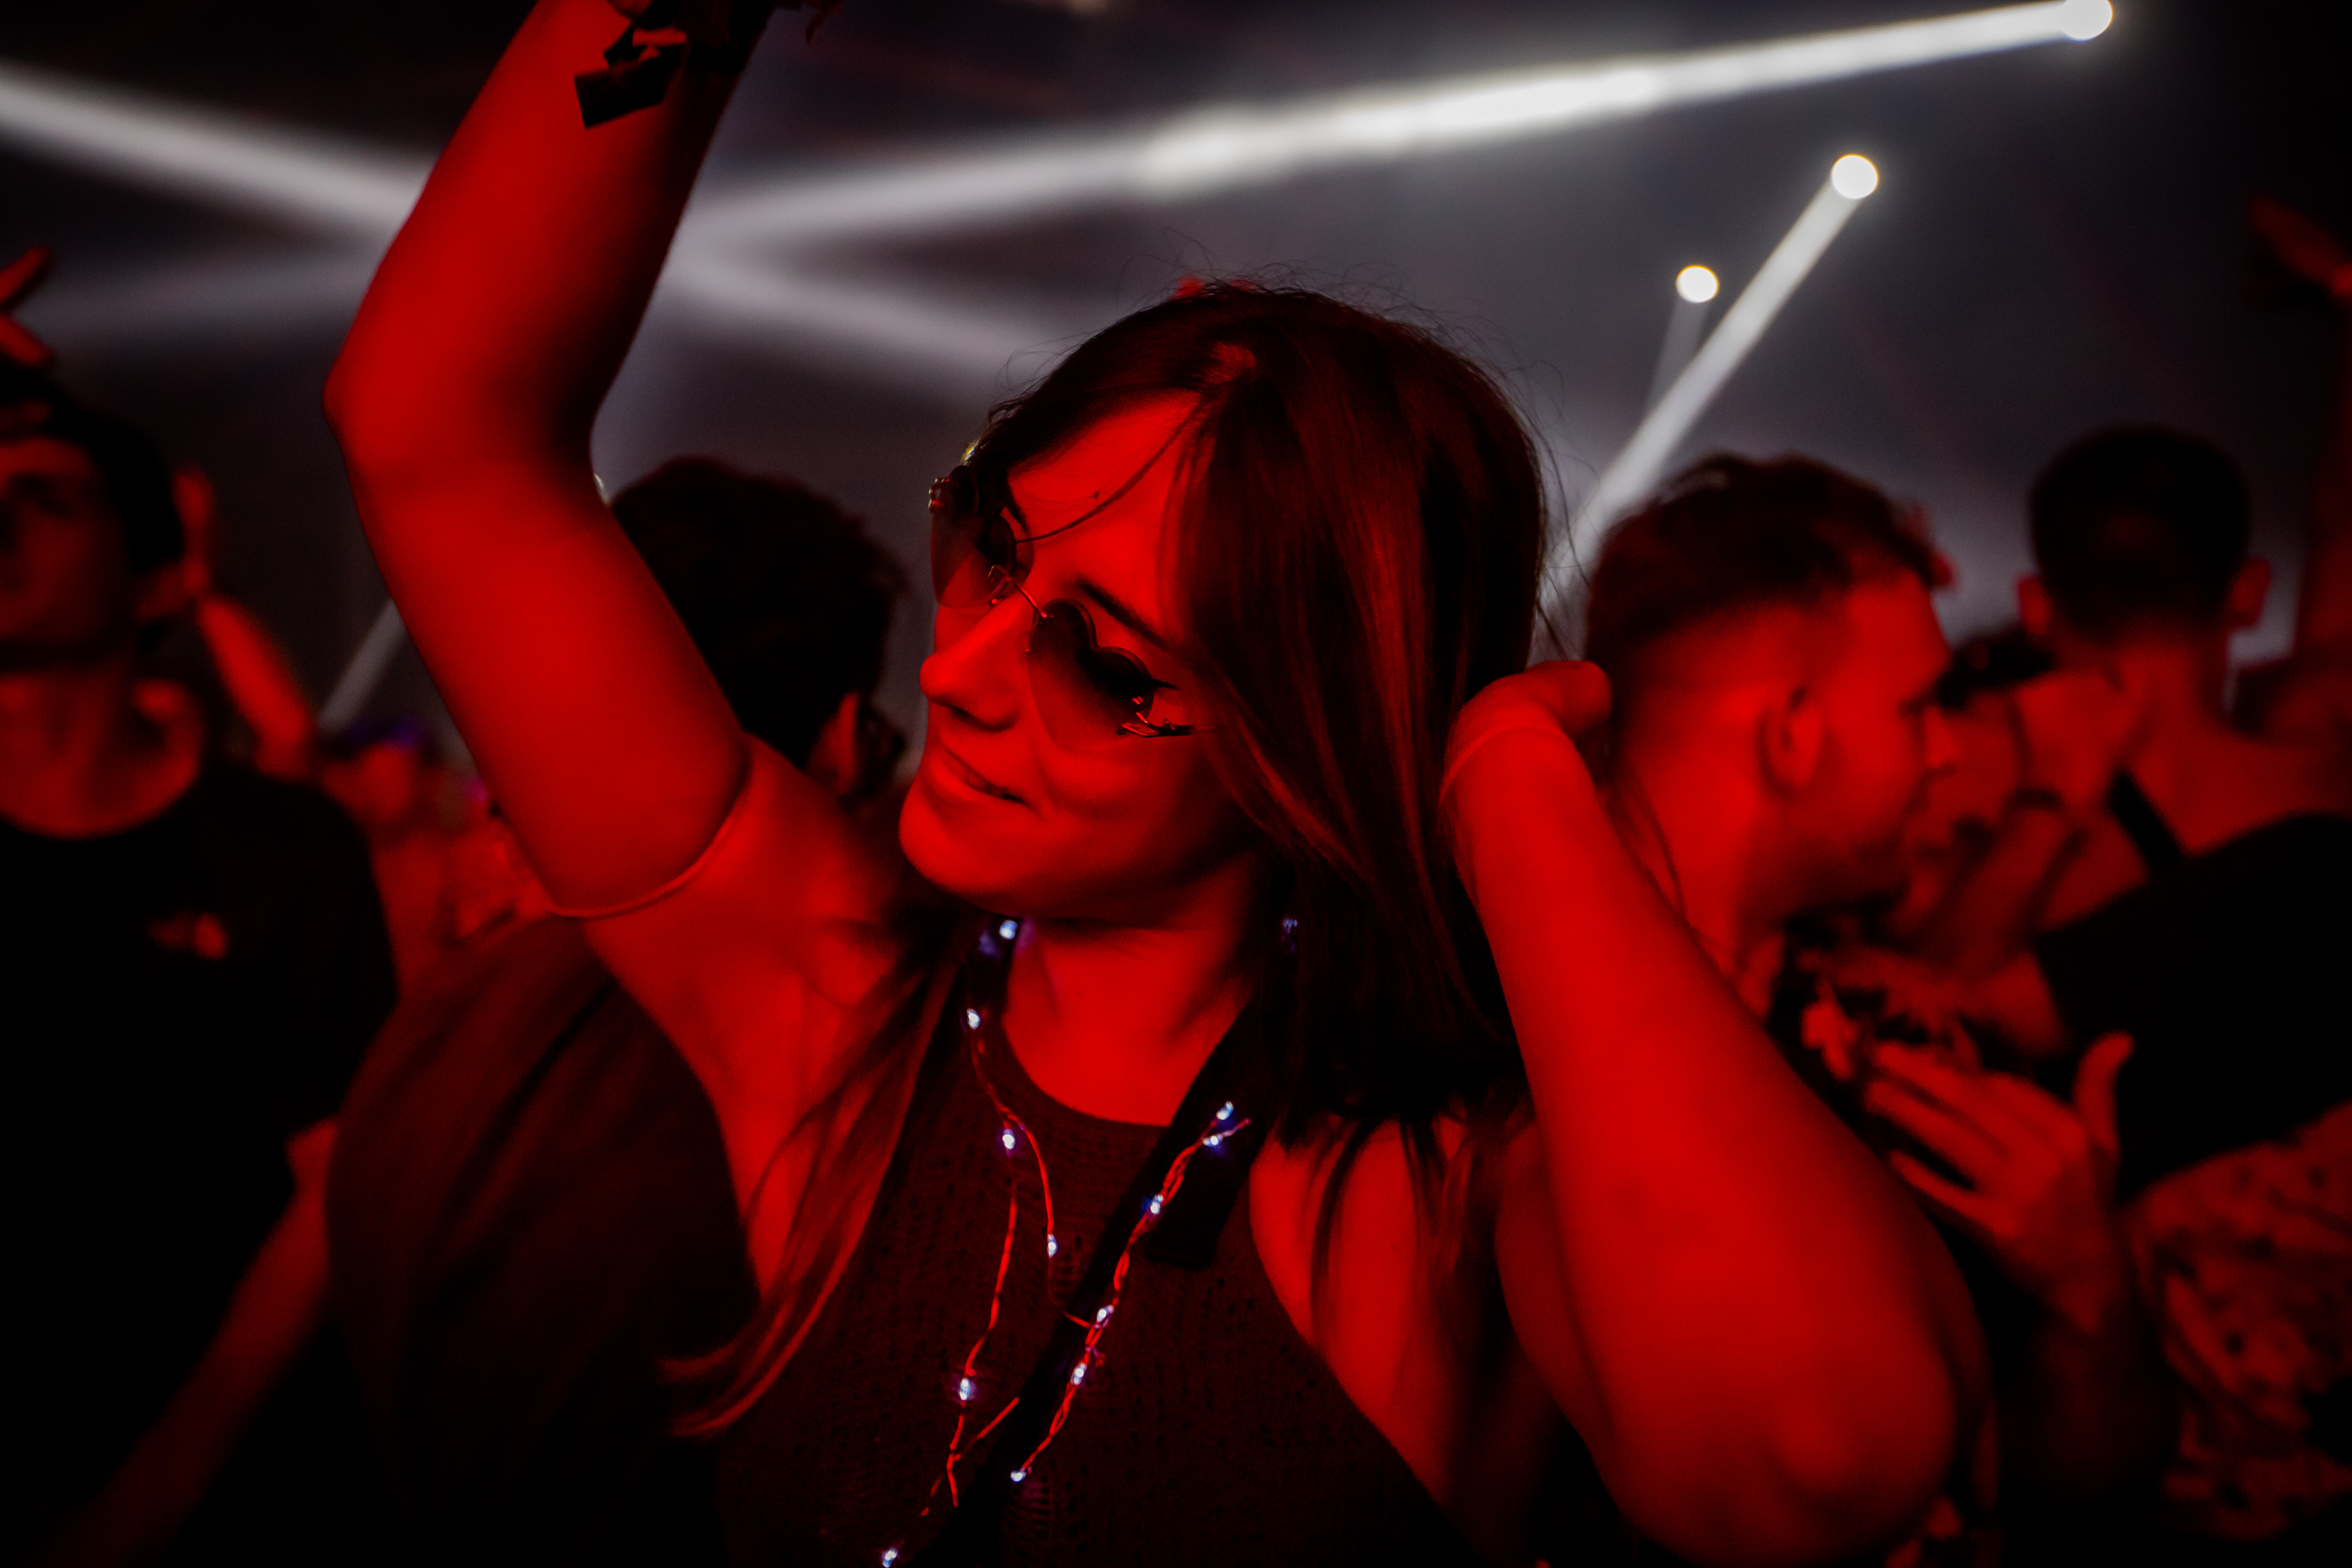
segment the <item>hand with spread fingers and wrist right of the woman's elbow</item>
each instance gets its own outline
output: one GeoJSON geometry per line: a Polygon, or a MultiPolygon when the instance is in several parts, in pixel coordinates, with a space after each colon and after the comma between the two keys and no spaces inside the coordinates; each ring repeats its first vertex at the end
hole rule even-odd
{"type": "MultiPolygon", "coordinates": [[[[1896,1150],[1889,1164],[1976,1237],[2042,1307],[1999,1389],[2002,1469],[2063,1505],[2119,1502],[2171,1455],[2171,1380],[2114,1213],[2114,1074],[2131,1039],[2084,1053],[2074,1105],[2002,1072],[1882,1044],[1867,1107],[1962,1182],[1896,1150]]],[[[2004,1495],[2011,1486],[2004,1483],[2004,1495]]]]}

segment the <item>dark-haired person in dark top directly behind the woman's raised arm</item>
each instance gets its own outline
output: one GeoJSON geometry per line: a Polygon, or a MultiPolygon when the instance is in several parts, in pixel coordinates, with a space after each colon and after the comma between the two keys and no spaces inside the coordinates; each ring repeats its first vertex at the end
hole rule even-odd
{"type": "MultiPolygon", "coordinates": [[[[710,461],[614,515],[743,729],[889,835],[896,562],[821,496],[710,461]]],[[[713,1556],[668,1368],[750,1312],[734,1182],[701,1084],[569,919],[492,926],[402,1004],[353,1086],[329,1229],[419,1561],[713,1556]]]]}

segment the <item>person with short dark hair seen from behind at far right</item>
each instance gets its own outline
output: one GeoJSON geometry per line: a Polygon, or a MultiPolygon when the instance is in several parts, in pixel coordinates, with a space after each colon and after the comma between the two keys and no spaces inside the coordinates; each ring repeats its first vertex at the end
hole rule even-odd
{"type": "MultiPolygon", "coordinates": [[[[2223,710],[2267,588],[2227,456],[2145,428],[2077,442],[2034,487],[2032,543],[2025,625],[2114,691],[2126,743],[2086,766],[2039,738],[2103,788],[2042,802],[2072,827],[2056,914],[1945,1001],[2060,1070],[2131,1037],[2112,1201],[2183,1403],[2171,1523],[2317,1561],[2352,1542],[2352,769],[2223,710]]],[[[2002,1143],[1985,1086],[1940,1070],[1879,1112],[1938,1152],[2002,1143]]]]}

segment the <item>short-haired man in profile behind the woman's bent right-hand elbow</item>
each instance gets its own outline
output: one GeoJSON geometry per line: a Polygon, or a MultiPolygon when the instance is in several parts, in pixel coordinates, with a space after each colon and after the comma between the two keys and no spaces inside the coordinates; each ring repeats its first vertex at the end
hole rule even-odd
{"type": "MultiPolygon", "coordinates": [[[[1806,458],[1717,456],[1611,534],[1588,607],[1588,656],[1613,689],[1602,778],[1628,844],[1799,1074],[1907,1178],[1926,1168],[1865,1095],[1915,1065],[1976,1077],[1969,1041],[1875,1041],[1875,1018],[1818,976],[1832,933],[1813,917],[1900,886],[1915,818],[1955,762],[1936,703],[1940,576],[1917,522],[1867,484],[1806,458]]],[[[2044,1103],[2018,1114],[2034,1126],[2077,1119],[2032,1093],[2044,1103]]],[[[2077,1486],[2122,1483],[2147,1462],[2133,1429],[2161,1434],[2112,1227],[2084,1199],[2067,1213],[2091,1211],[2105,1246],[2018,1244],[2018,1215],[2072,1194],[2084,1168],[1987,1168],[1966,1211],[1936,1204],[1994,1347],[2009,1488],[2046,1481],[2034,1469],[2053,1458],[2077,1486]],[[2018,1429],[2053,1406],[2093,1420],[2018,1429]]]]}

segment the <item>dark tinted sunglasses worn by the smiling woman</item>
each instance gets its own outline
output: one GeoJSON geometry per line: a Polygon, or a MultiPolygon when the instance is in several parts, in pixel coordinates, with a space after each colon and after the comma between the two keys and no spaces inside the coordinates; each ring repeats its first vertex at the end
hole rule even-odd
{"type": "Polygon", "coordinates": [[[985,611],[1016,592],[1028,602],[1028,679],[1037,717],[1056,745],[1094,750],[1129,736],[1145,741],[1190,736],[1190,724],[1152,719],[1152,696],[1174,686],[1155,679],[1134,654],[1105,649],[1084,604],[1077,599],[1040,604],[1021,585],[1028,581],[1035,543],[1044,536],[1023,534],[1016,527],[1018,517],[1021,508],[1014,505],[1002,475],[960,465],[931,487],[931,592],[941,607],[985,611]]]}

